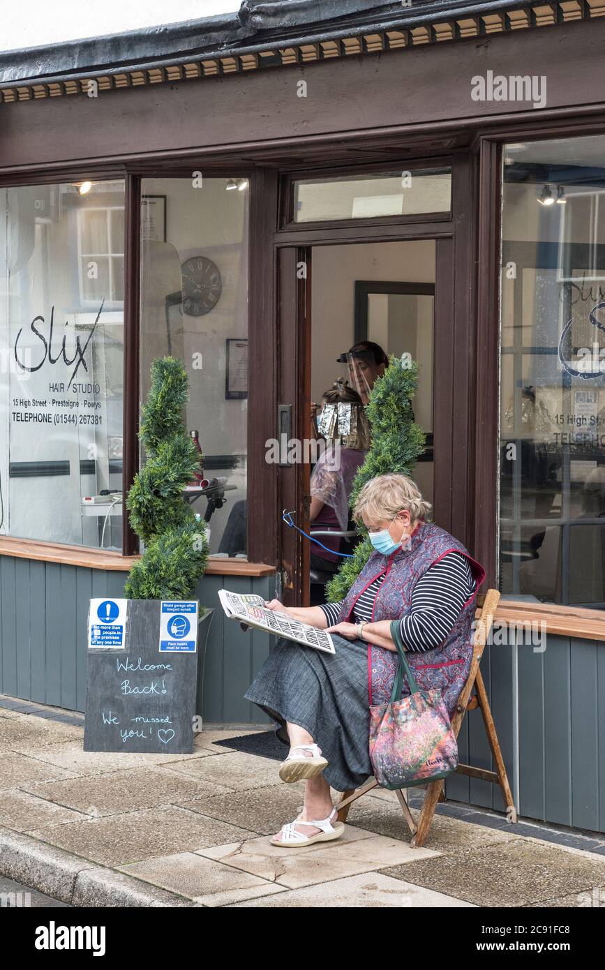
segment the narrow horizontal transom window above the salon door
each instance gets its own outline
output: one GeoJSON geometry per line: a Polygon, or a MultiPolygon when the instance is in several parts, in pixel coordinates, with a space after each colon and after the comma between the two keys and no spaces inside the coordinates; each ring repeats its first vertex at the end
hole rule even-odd
{"type": "Polygon", "coordinates": [[[447,170],[308,178],[294,182],[292,218],[324,222],[449,212],[451,195],[452,176],[447,170]]]}

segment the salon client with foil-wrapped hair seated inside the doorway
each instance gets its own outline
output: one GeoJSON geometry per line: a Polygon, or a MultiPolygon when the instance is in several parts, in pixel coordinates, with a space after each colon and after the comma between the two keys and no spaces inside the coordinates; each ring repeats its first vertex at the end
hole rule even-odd
{"type": "MultiPolygon", "coordinates": [[[[369,448],[369,425],[362,399],[342,380],[334,381],[323,398],[319,429],[328,438],[328,447],[311,474],[309,520],[322,532],[346,532],[353,479],[369,448]]],[[[323,535],[319,541],[321,545],[311,544],[311,568],[335,572],[341,562],[340,538],[323,535]]]]}

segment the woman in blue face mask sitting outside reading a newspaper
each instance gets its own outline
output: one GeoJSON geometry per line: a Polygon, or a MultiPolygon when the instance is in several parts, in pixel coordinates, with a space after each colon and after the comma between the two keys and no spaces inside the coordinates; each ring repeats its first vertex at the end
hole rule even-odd
{"type": "MultiPolygon", "coordinates": [[[[472,660],[475,599],[485,571],[452,535],[427,521],[430,505],[411,479],[378,475],[354,509],[374,552],[347,596],[322,606],[267,605],[334,635],[335,654],[279,639],[245,693],[290,745],[285,782],[306,779],[303,811],[271,839],[295,847],[338,838],[330,787],[359,788],[372,775],[369,705],[388,703],[398,666],[399,620],[421,690],[439,689],[452,717],[472,660]]],[[[404,678],[403,695],[409,695],[404,678]]]]}

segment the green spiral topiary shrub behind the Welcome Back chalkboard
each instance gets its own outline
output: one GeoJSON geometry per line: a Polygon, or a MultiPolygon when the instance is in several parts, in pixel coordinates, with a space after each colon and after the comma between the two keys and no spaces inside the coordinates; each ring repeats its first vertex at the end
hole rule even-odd
{"type": "Polygon", "coordinates": [[[182,498],[200,469],[182,418],[188,398],[182,361],[154,360],[139,431],[146,460],[126,498],[131,525],[145,546],[124,586],[128,599],[188,599],[206,569],[206,523],[182,498]]]}

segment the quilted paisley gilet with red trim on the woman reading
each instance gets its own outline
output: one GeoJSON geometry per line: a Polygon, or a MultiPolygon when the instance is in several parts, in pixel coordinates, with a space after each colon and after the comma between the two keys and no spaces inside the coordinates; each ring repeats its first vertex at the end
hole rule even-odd
{"type": "MultiPolygon", "coordinates": [[[[412,593],[420,577],[448,552],[460,552],[469,561],[476,580],[475,592],[464,602],[454,629],[444,642],[432,650],[409,651],[407,660],[421,690],[441,691],[448,714],[452,718],[470,669],[475,601],[486,575],[483,566],[472,559],[462,542],[433,523],[420,522],[402,549],[397,549],[390,556],[379,552],[372,553],[342,600],[337,622],[350,619],[357,599],[383,573],[385,578],[374,599],[372,621],[377,623],[379,620],[400,620],[411,610],[412,593]]],[[[370,704],[389,702],[397,668],[397,652],[368,644],[367,689],[370,704]]],[[[409,685],[404,678],[401,696],[409,693],[409,685]]]]}

